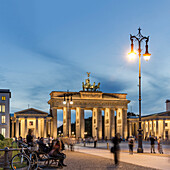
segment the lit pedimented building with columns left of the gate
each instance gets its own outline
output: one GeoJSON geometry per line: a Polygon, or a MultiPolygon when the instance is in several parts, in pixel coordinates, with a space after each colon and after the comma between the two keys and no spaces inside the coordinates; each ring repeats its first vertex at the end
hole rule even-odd
{"type": "Polygon", "coordinates": [[[11,117],[12,129],[11,137],[26,137],[28,129],[33,130],[34,136],[47,137],[52,133],[52,117],[47,112],[28,108],[14,113],[11,117]]]}

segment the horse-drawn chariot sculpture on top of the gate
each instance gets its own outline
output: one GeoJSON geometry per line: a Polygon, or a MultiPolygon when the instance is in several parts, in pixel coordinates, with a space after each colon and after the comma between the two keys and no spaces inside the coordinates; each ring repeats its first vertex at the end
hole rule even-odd
{"type": "Polygon", "coordinates": [[[98,89],[100,89],[100,83],[98,83],[97,85],[95,85],[95,82],[93,83],[93,85],[90,84],[90,72],[87,72],[87,75],[88,79],[86,79],[86,83],[84,84],[84,82],[82,82],[83,91],[97,91],[98,89]]]}

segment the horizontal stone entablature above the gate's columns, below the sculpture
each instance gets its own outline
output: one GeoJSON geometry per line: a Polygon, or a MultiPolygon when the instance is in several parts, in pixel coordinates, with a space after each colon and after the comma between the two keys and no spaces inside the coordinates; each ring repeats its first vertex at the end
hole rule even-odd
{"type": "Polygon", "coordinates": [[[52,107],[58,107],[62,109],[65,107],[63,104],[64,94],[69,93],[72,95],[73,104],[70,108],[75,109],[76,107],[83,108],[127,108],[127,104],[130,102],[126,99],[127,94],[118,93],[102,93],[102,92],[57,92],[53,91],[50,93],[51,99],[48,104],[52,107]]]}

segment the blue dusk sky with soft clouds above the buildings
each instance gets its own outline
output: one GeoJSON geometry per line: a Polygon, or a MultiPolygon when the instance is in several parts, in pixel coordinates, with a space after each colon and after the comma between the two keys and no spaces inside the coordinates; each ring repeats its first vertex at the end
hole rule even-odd
{"type": "Polygon", "coordinates": [[[139,27],[151,53],[142,58],[142,115],[165,111],[169,7],[169,0],[1,0],[0,88],[11,90],[11,113],[28,104],[49,112],[50,92],[82,90],[86,72],[101,91],[127,93],[128,111],[138,113],[138,57],[127,54],[139,27]]]}

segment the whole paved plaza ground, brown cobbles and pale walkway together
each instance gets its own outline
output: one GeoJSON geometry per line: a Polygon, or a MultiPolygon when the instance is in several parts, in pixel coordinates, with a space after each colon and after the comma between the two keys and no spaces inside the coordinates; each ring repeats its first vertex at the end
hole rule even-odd
{"type": "MultiPolygon", "coordinates": [[[[67,149],[64,153],[67,155],[65,164],[67,167],[63,169],[80,169],[80,170],[107,170],[107,169],[124,169],[124,170],[150,170],[150,169],[162,169],[168,170],[170,167],[170,155],[169,154],[151,154],[149,152],[138,154],[134,153],[130,155],[125,147],[126,143],[122,143],[121,147],[124,149],[120,152],[120,166],[114,166],[113,154],[110,150],[107,150],[106,143],[98,143],[97,148],[93,148],[93,144],[89,147],[80,146],[78,144],[74,146],[74,151],[67,149]]],[[[148,145],[147,143],[145,144],[148,145]]],[[[145,148],[147,148],[145,146],[145,148]]],[[[169,145],[166,145],[167,151],[169,145]]],[[[148,145],[149,149],[149,145],[148,145]]],[[[43,169],[57,169],[57,167],[43,167],[43,169]]]]}

